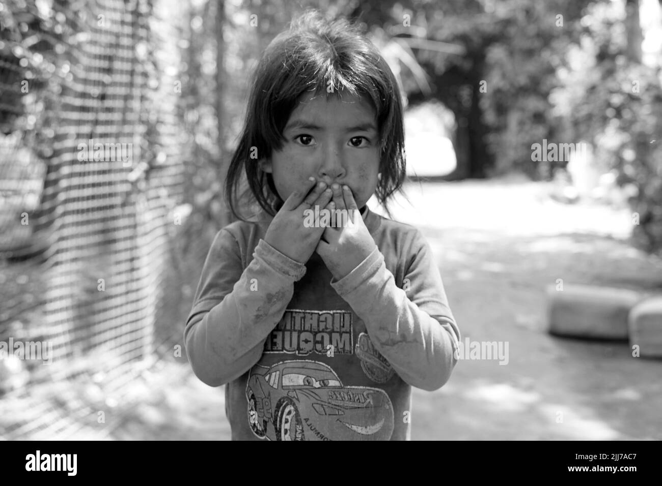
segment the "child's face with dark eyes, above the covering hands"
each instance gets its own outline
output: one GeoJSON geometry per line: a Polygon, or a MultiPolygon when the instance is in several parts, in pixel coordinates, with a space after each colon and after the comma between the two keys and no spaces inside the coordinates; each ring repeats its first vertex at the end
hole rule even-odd
{"type": "Polygon", "coordinates": [[[299,99],[285,129],[286,142],[261,161],[285,201],[307,184],[308,177],[347,184],[359,208],[379,182],[379,133],[375,110],[360,97],[306,93],[299,99]]]}

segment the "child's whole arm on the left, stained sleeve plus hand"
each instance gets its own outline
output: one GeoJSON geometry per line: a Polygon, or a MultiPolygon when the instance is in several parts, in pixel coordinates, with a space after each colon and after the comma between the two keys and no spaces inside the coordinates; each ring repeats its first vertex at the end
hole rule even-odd
{"type": "Polygon", "coordinates": [[[189,361],[200,380],[220,386],[260,360],[265,339],[292,299],[294,282],[306,272],[302,262],[324,231],[302,224],[305,210],[316,204],[324,208],[330,200],[326,184],[309,177],[287,196],[243,271],[232,233],[222,229],[216,235],[184,330],[189,361]]]}

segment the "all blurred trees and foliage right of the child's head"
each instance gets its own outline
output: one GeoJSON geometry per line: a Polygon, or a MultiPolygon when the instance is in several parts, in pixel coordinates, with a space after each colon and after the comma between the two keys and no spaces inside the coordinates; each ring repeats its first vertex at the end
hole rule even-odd
{"type": "Polygon", "coordinates": [[[365,7],[363,17],[418,45],[413,50],[430,93],[416,93],[418,80],[403,85],[410,99],[432,97],[455,114],[455,151],[466,166],[461,177],[520,171],[547,179],[567,161],[532,161],[532,143],[589,140],[596,164],[636,187],[636,241],[648,251],[662,247],[661,77],[632,59],[628,42],[640,36],[630,31],[638,22],[626,20],[624,1],[388,5],[365,7]],[[462,54],[430,48],[430,41],[462,54]]]}

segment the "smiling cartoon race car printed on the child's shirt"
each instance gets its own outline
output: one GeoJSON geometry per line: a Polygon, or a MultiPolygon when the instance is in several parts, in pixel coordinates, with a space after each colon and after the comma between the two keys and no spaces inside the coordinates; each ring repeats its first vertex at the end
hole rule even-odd
{"type": "Polygon", "coordinates": [[[393,406],[381,389],[343,386],[330,366],[256,365],[246,385],[251,430],[269,440],[389,440],[393,406]]]}

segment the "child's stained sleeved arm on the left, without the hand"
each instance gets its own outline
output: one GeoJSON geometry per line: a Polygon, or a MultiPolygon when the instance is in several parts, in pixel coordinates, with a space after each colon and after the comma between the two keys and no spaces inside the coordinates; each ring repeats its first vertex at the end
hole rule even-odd
{"type": "Polygon", "coordinates": [[[184,342],[195,376],[211,386],[226,384],[262,356],[264,341],[306,272],[260,240],[242,271],[239,245],[226,229],[212,243],[186,328],[184,342]]]}

